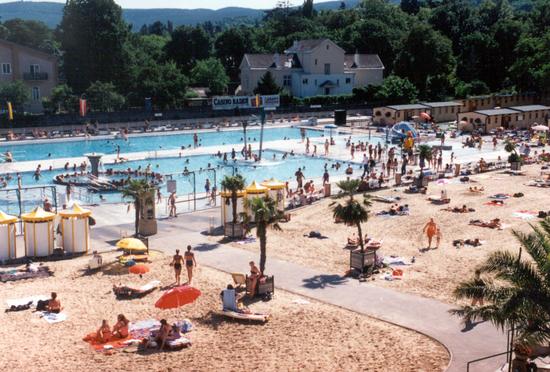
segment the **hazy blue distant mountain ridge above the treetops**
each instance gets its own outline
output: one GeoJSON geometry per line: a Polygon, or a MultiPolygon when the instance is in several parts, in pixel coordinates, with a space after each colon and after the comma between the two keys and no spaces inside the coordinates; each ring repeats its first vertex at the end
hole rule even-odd
{"type": "MultiPolygon", "coordinates": [[[[348,8],[355,7],[361,0],[346,0],[348,8]]],[[[341,1],[328,1],[315,4],[316,10],[338,9],[341,1]]],[[[49,27],[56,27],[63,16],[63,3],[53,2],[11,2],[0,4],[0,20],[13,18],[42,21],[49,27]]],[[[261,19],[263,10],[227,7],[212,9],[123,9],[126,22],[138,30],[144,24],[156,21],[172,21],[174,26],[195,25],[210,21],[212,23],[241,23],[261,19]]]]}

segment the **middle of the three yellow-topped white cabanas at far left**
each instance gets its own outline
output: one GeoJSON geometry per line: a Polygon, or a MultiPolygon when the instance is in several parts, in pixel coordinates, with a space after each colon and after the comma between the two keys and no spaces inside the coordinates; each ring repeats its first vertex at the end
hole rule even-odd
{"type": "Polygon", "coordinates": [[[45,257],[53,253],[55,213],[36,207],[32,212],[21,215],[25,255],[45,257]]]}

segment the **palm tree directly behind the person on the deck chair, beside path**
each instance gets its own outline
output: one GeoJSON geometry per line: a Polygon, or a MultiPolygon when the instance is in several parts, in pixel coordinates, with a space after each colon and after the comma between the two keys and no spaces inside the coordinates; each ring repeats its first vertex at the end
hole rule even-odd
{"type": "Polygon", "coordinates": [[[277,210],[277,202],[269,196],[256,197],[250,201],[247,200],[245,204],[254,213],[256,236],[260,239],[260,271],[263,273],[267,256],[267,229],[271,227],[280,231],[281,226],[278,222],[283,214],[277,210]]]}

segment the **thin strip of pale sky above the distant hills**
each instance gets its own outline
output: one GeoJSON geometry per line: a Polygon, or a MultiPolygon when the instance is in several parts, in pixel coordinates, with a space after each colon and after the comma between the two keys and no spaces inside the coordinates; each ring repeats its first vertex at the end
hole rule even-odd
{"type": "MultiPolygon", "coordinates": [[[[0,3],[9,3],[14,0],[0,0],[0,3]]],[[[28,0],[27,0],[28,1],[28,0]]],[[[65,0],[45,0],[64,3],[65,0]]],[[[327,0],[317,0],[316,3],[322,3],[327,0]]],[[[277,4],[277,0],[115,0],[123,8],[209,8],[219,9],[228,6],[239,6],[255,9],[270,9],[277,4]]],[[[300,5],[302,0],[290,0],[290,5],[300,5]]]]}

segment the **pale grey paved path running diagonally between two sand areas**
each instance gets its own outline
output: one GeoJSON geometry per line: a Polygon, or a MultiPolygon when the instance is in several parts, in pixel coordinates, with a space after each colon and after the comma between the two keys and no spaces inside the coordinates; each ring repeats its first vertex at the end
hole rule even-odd
{"type": "MultiPolygon", "coordinates": [[[[155,249],[171,253],[175,247],[193,244],[199,264],[225,272],[242,272],[258,254],[227,245],[205,243],[208,229],[219,210],[181,215],[159,223],[159,234],[150,241],[155,249]]],[[[94,236],[102,241],[118,238],[120,227],[100,227],[94,236]]],[[[99,242],[98,242],[99,243],[99,242]]],[[[506,337],[491,324],[476,324],[464,332],[460,319],[451,316],[450,305],[436,300],[380,288],[339,275],[269,257],[269,273],[277,288],[340,306],[361,314],[413,329],[441,342],[451,353],[448,371],[465,371],[469,360],[506,350],[506,337]]],[[[358,336],[359,337],[359,336],[358,336]]],[[[495,371],[504,358],[475,364],[472,371],[495,371]]]]}

